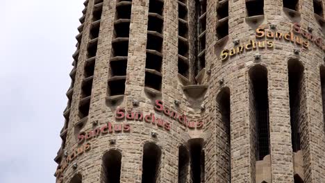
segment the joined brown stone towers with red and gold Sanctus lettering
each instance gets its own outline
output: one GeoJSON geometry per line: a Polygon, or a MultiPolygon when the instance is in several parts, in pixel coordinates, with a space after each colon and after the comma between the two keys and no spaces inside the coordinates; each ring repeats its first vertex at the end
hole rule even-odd
{"type": "Polygon", "coordinates": [[[325,182],[325,1],[84,5],[57,183],[325,182]]]}

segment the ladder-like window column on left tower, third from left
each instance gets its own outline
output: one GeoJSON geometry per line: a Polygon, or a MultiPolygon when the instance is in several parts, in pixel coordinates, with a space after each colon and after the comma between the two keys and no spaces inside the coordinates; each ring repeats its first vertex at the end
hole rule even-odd
{"type": "Polygon", "coordinates": [[[144,89],[153,96],[161,94],[163,80],[163,12],[164,1],[149,0],[144,89]]]}

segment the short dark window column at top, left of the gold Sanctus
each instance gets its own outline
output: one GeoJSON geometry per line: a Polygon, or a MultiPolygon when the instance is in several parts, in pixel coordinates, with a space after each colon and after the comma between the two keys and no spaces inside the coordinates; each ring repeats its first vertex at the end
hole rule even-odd
{"type": "Polygon", "coordinates": [[[228,35],[228,1],[219,1],[217,6],[217,38],[222,38],[228,35]]]}

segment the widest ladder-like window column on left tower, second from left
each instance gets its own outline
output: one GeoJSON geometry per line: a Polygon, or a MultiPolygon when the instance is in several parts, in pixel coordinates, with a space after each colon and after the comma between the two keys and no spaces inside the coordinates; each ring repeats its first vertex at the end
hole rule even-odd
{"type": "Polygon", "coordinates": [[[108,79],[108,101],[116,102],[124,97],[128,63],[132,1],[117,0],[108,79]]]}

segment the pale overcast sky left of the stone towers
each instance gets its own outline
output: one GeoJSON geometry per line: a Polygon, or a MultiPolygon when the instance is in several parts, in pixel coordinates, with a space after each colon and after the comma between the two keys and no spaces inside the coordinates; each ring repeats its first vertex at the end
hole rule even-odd
{"type": "Polygon", "coordinates": [[[0,182],[55,182],[83,0],[0,2],[0,182]]]}

